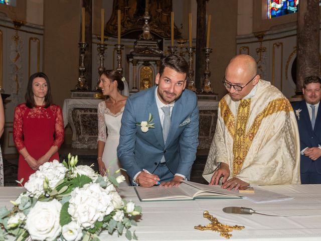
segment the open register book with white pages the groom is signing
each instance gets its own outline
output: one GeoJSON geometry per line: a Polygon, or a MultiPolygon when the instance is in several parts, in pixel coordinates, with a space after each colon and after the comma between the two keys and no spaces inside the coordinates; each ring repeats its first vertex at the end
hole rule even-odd
{"type": "Polygon", "coordinates": [[[221,186],[209,186],[195,182],[183,181],[178,187],[166,188],[153,186],[150,188],[135,187],[140,201],[193,200],[195,198],[241,198],[240,195],[222,189],[221,186]],[[201,186],[199,186],[201,185],[201,186]],[[210,188],[203,188],[210,187],[210,188]],[[214,189],[213,189],[214,187],[214,189]]]}

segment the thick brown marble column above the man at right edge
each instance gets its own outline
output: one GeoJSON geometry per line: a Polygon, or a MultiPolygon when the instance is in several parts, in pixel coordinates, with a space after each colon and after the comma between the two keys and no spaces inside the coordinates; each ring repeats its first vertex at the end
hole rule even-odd
{"type": "Polygon", "coordinates": [[[303,80],[319,76],[319,0],[300,1],[297,14],[296,95],[302,95],[303,80]]]}

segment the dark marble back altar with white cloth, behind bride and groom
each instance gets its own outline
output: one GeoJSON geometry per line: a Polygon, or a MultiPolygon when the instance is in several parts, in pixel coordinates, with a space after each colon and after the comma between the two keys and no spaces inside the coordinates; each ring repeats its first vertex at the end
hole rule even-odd
{"type": "MultiPolygon", "coordinates": [[[[65,128],[72,130],[72,148],[96,149],[98,136],[97,107],[102,99],[65,99],[62,112],[65,128]]],[[[209,149],[216,128],[218,101],[198,101],[200,114],[199,147],[209,149]]]]}

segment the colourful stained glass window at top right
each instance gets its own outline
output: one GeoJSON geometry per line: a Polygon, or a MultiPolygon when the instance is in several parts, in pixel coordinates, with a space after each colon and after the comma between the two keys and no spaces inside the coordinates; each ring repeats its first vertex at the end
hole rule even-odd
{"type": "Polygon", "coordinates": [[[296,13],[298,4],[299,0],[268,0],[267,18],[296,13]]]}

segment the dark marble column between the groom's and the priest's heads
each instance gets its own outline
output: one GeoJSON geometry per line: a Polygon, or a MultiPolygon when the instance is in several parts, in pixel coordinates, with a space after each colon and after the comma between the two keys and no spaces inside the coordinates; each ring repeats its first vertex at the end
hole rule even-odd
{"type": "Polygon", "coordinates": [[[196,32],[196,54],[195,54],[195,86],[198,92],[202,90],[202,79],[205,72],[206,47],[206,9],[209,0],[197,0],[197,32],[196,32]]]}

